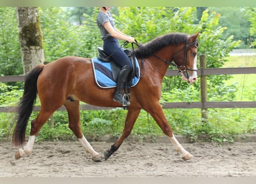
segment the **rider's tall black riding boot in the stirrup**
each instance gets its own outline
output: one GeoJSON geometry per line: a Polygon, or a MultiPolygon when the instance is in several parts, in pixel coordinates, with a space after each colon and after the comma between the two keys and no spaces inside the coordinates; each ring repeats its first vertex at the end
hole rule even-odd
{"type": "Polygon", "coordinates": [[[123,98],[123,93],[122,93],[125,79],[127,79],[127,76],[130,71],[131,71],[131,68],[128,65],[123,66],[123,68],[119,73],[119,78],[117,79],[116,91],[114,92],[114,95],[113,95],[113,101],[117,101],[120,104],[123,104],[124,106],[130,105],[130,102],[127,99],[123,98]]]}

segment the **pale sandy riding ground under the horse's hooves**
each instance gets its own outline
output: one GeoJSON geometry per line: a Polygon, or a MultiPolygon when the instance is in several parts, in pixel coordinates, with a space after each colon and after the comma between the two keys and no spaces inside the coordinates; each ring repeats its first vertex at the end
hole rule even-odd
{"type": "MultiPolygon", "coordinates": [[[[103,154],[111,143],[91,142],[103,154]]],[[[127,141],[96,163],[78,141],[35,143],[31,155],[14,159],[17,148],[0,143],[0,177],[255,177],[256,143],[182,144],[194,155],[183,161],[169,143],[127,141]]]]}

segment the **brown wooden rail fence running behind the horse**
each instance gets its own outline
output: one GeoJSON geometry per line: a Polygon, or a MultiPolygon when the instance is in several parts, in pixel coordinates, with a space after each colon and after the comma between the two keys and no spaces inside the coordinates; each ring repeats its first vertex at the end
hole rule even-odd
{"type": "MultiPolygon", "coordinates": [[[[163,109],[176,108],[200,108],[202,109],[202,117],[205,117],[205,110],[208,108],[256,108],[255,101],[226,101],[226,102],[208,102],[207,101],[207,75],[223,75],[223,74],[256,74],[256,67],[239,67],[239,68],[206,68],[206,56],[200,55],[200,68],[198,75],[201,76],[201,102],[168,102],[163,105],[163,109]]],[[[166,76],[178,76],[177,70],[167,70],[166,76]]],[[[18,82],[24,81],[25,76],[0,76],[0,82],[18,82]]],[[[16,107],[0,107],[1,112],[12,112],[16,107]]],[[[108,110],[113,108],[98,107],[93,105],[81,105],[81,110],[108,110]]],[[[40,106],[35,106],[34,111],[39,111],[40,106]]],[[[66,110],[64,106],[59,110],[66,110]]],[[[205,117],[206,118],[206,117],[205,117]]]]}

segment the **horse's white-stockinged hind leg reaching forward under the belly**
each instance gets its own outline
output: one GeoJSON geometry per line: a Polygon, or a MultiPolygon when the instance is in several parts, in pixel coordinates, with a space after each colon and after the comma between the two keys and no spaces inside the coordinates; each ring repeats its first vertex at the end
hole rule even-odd
{"type": "Polygon", "coordinates": [[[64,102],[64,106],[66,107],[68,112],[69,128],[72,132],[74,132],[75,136],[77,136],[83,147],[85,147],[86,152],[90,153],[91,159],[93,159],[95,162],[100,161],[102,157],[96,151],[94,151],[93,147],[86,140],[85,136],[83,136],[83,133],[81,131],[79,101],[71,101],[70,99],[67,99],[64,102]]]}

